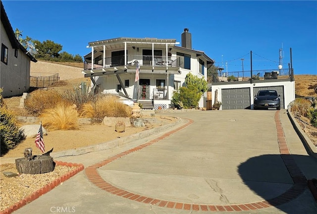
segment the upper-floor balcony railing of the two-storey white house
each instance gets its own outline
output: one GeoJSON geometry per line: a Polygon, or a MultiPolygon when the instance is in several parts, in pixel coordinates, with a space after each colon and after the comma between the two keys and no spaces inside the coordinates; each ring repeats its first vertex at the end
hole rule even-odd
{"type": "Polygon", "coordinates": [[[176,56],[148,56],[148,55],[127,55],[127,61],[124,61],[124,55],[112,56],[104,59],[94,61],[94,68],[92,68],[92,60],[85,59],[84,70],[109,68],[122,65],[137,65],[139,66],[160,66],[160,67],[179,67],[180,58],[176,56]]]}

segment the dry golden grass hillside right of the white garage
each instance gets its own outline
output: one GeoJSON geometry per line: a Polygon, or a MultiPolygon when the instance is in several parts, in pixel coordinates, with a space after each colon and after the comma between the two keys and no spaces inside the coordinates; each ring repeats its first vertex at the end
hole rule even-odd
{"type": "Polygon", "coordinates": [[[296,97],[317,97],[317,75],[295,75],[296,97]]]}

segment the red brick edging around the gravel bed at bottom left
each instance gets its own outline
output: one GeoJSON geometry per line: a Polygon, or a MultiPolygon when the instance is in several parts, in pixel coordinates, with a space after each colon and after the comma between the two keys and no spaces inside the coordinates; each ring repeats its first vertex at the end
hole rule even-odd
{"type": "Polygon", "coordinates": [[[77,168],[67,172],[66,174],[62,175],[59,178],[56,178],[51,183],[48,183],[46,186],[41,187],[31,195],[27,196],[26,198],[20,200],[19,202],[15,203],[14,205],[11,205],[7,209],[0,212],[0,214],[11,214],[12,212],[20,209],[24,205],[34,201],[35,199],[38,199],[41,195],[46,194],[47,192],[51,191],[53,188],[58,186],[60,183],[64,182],[65,180],[68,180],[70,177],[74,176],[78,172],[82,171],[84,169],[84,165],[81,163],[71,163],[71,162],[62,162],[62,161],[56,161],[54,160],[56,165],[64,165],[64,166],[77,166],[77,168]]]}

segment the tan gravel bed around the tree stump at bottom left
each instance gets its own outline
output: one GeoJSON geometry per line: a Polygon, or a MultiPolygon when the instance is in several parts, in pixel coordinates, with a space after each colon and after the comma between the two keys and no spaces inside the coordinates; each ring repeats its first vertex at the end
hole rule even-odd
{"type": "MultiPolygon", "coordinates": [[[[51,183],[76,167],[56,165],[54,171],[43,174],[20,174],[6,177],[4,171],[17,173],[14,163],[0,165],[0,211],[26,198],[28,195],[51,183]]],[[[61,183],[62,184],[62,183],[61,183]]]]}

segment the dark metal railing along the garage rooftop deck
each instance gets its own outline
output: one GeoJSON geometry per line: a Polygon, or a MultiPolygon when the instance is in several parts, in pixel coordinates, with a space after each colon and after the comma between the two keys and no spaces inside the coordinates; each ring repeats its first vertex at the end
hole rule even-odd
{"type": "Polygon", "coordinates": [[[270,80],[288,79],[292,77],[292,69],[272,69],[252,71],[218,72],[208,78],[208,83],[212,82],[231,82],[231,81],[251,81],[251,80],[270,80]]]}

